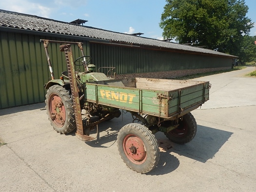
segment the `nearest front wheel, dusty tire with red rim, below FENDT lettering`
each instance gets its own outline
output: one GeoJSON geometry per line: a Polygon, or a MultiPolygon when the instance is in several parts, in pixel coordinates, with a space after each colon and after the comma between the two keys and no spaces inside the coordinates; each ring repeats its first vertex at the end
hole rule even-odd
{"type": "Polygon", "coordinates": [[[121,158],[130,169],[148,173],[157,166],[160,157],[158,142],[144,125],[130,123],[123,126],[117,144],[121,158]]]}

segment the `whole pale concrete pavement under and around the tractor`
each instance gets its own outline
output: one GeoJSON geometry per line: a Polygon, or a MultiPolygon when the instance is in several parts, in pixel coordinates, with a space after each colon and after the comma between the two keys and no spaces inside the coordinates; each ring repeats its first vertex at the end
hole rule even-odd
{"type": "Polygon", "coordinates": [[[98,141],[56,133],[43,103],[0,110],[0,192],[255,192],[256,78],[244,70],[197,78],[212,83],[210,101],[193,111],[197,135],[177,145],[157,133],[152,172],[126,167],[116,136],[131,116],[99,126],[98,141]]]}

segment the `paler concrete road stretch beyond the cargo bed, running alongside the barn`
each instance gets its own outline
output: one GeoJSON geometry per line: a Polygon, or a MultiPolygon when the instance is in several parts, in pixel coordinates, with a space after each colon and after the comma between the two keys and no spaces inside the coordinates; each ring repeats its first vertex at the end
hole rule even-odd
{"type": "Polygon", "coordinates": [[[212,83],[209,102],[202,109],[250,106],[256,104],[256,78],[245,77],[256,70],[251,66],[243,70],[197,78],[212,83]]]}

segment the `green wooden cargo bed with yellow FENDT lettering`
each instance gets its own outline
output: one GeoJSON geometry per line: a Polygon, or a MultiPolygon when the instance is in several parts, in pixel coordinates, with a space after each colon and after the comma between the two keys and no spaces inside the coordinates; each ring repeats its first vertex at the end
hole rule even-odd
{"type": "Polygon", "coordinates": [[[209,81],[130,78],[86,83],[87,101],[173,118],[209,100],[209,81]]]}

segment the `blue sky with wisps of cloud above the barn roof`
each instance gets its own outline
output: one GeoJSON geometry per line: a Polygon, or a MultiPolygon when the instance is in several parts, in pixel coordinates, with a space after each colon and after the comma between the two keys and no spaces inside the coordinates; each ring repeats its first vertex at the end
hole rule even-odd
{"type": "MultiPolygon", "coordinates": [[[[162,38],[159,27],[165,0],[0,0],[0,9],[71,22],[88,20],[84,25],[120,33],[143,33],[141,37],[162,38]]],[[[256,0],[245,0],[247,17],[256,36],[256,0]]]]}

